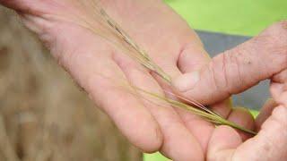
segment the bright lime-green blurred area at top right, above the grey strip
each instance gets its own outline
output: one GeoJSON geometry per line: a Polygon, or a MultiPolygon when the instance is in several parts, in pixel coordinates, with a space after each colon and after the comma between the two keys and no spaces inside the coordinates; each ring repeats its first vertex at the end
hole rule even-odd
{"type": "Polygon", "coordinates": [[[287,19],[286,0],[165,0],[190,26],[236,35],[253,36],[287,19]]]}

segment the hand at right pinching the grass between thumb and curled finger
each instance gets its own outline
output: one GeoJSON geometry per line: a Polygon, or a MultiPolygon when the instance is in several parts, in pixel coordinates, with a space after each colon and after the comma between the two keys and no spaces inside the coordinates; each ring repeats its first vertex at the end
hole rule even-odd
{"type": "Polygon", "coordinates": [[[274,100],[267,101],[257,117],[257,136],[243,142],[236,131],[219,126],[208,143],[208,160],[287,159],[287,21],[214,57],[200,70],[198,81],[188,81],[195,80],[192,73],[174,81],[187,97],[213,104],[265,79],[271,81],[274,100]]]}

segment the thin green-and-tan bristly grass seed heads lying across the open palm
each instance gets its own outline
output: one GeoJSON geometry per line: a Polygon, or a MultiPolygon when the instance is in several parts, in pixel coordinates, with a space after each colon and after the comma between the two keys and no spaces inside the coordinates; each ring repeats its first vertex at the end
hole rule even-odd
{"type": "MultiPolygon", "coordinates": [[[[123,30],[116,21],[114,21],[108,13],[106,13],[106,11],[100,6],[99,2],[97,1],[93,1],[91,6],[93,7],[94,11],[95,11],[95,15],[100,18],[101,23],[104,22],[104,25],[106,27],[109,28],[109,32],[114,33],[114,37],[105,37],[104,34],[100,33],[99,30],[95,30],[92,29],[92,24],[89,24],[88,21],[84,21],[84,24],[87,24],[88,26],[90,25],[90,27],[88,27],[90,30],[96,32],[96,34],[100,35],[103,38],[108,38],[111,42],[114,42],[115,45],[117,47],[119,47],[119,49],[123,50],[124,53],[126,53],[127,55],[131,56],[133,59],[135,59],[135,61],[137,61],[138,63],[142,64],[144,67],[146,67],[148,70],[158,74],[162,80],[165,80],[169,85],[170,88],[171,87],[171,79],[170,79],[170,75],[166,72],[163,72],[163,70],[161,70],[161,67],[158,66],[157,64],[155,64],[152,61],[152,58],[147,54],[147,52],[145,50],[143,50],[142,47],[140,47],[139,45],[137,45],[135,43],[135,41],[133,40],[133,38],[131,38],[125,30],[123,30]]],[[[96,17],[94,16],[94,17],[96,17]]],[[[86,26],[87,27],[87,26],[86,26]]],[[[107,32],[107,30],[105,30],[105,32],[107,32]]],[[[133,87],[133,86],[132,86],[133,87]]],[[[230,127],[233,127],[235,129],[238,129],[240,131],[245,131],[249,134],[252,135],[256,135],[257,132],[255,131],[251,131],[248,130],[242,126],[240,126],[239,124],[236,123],[232,123],[226,119],[224,119],[222,116],[220,116],[219,114],[214,113],[212,110],[208,109],[207,107],[203,106],[202,104],[200,104],[199,102],[197,102],[196,100],[181,96],[180,94],[176,94],[173,92],[169,92],[169,91],[165,91],[165,93],[170,94],[174,97],[178,97],[179,99],[183,100],[184,102],[181,101],[177,101],[177,100],[173,100],[170,99],[169,97],[161,97],[161,95],[156,94],[156,93],[152,93],[149,92],[147,90],[141,89],[139,87],[133,87],[136,91],[142,92],[146,95],[148,95],[149,97],[153,97],[156,98],[158,100],[161,100],[164,103],[168,103],[171,106],[177,107],[177,108],[181,108],[181,109],[185,109],[188,112],[192,113],[192,114],[196,114],[201,116],[202,118],[204,118],[206,121],[214,123],[216,125],[228,125],[230,127]]]]}

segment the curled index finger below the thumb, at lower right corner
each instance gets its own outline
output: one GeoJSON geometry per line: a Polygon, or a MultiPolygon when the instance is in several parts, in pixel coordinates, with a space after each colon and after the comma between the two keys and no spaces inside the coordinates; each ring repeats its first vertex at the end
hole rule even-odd
{"type": "Polygon", "coordinates": [[[242,143],[237,132],[219,126],[209,142],[211,160],[285,160],[287,158],[287,108],[277,106],[256,137],[242,143]],[[260,155],[264,154],[264,155],[260,155]]]}

